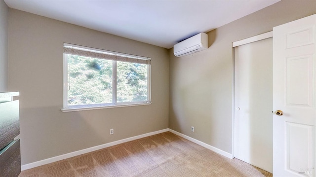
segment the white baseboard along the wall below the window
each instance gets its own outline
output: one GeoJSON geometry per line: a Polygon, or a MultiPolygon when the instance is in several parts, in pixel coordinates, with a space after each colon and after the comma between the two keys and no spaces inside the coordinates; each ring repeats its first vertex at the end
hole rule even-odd
{"type": "Polygon", "coordinates": [[[89,152],[92,152],[92,151],[95,151],[95,150],[100,150],[100,149],[103,149],[103,148],[106,148],[106,147],[110,147],[110,146],[113,146],[113,145],[117,145],[117,144],[120,144],[120,143],[123,143],[123,142],[130,142],[130,141],[133,141],[133,140],[138,140],[138,139],[141,139],[141,138],[149,137],[149,136],[152,136],[152,135],[156,135],[156,134],[163,133],[163,132],[168,132],[168,131],[169,131],[169,129],[158,130],[156,132],[150,132],[150,133],[146,133],[146,134],[143,134],[143,135],[138,135],[138,136],[135,136],[135,137],[126,138],[126,139],[123,139],[123,140],[118,140],[118,141],[115,141],[115,142],[109,142],[109,143],[97,145],[97,146],[94,146],[94,147],[89,147],[89,148],[86,148],[86,149],[78,150],[78,151],[75,151],[75,152],[70,152],[70,153],[59,155],[59,156],[56,156],[56,157],[51,157],[51,158],[48,158],[48,159],[44,159],[44,160],[40,160],[40,161],[37,161],[37,162],[33,162],[33,163],[22,165],[21,166],[21,170],[23,171],[23,170],[32,169],[32,168],[35,168],[35,167],[39,167],[41,165],[46,165],[46,164],[49,164],[49,163],[57,162],[59,160],[64,160],[64,159],[67,159],[67,158],[75,157],[77,155],[82,155],[82,154],[89,153],[89,152]]]}

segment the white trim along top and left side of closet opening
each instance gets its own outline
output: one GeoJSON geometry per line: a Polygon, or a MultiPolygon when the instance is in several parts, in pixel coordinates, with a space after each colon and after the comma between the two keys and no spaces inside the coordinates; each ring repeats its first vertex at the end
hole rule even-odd
{"type": "Polygon", "coordinates": [[[238,40],[232,43],[232,50],[233,50],[233,65],[234,65],[234,69],[233,69],[233,106],[232,106],[232,157],[235,158],[235,47],[240,46],[240,45],[244,45],[244,44],[248,44],[248,43],[252,43],[252,42],[256,42],[259,40],[263,40],[263,39],[267,39],[273,37],[273,31],[261,34],[261,35],[255,35],[252,37],[248,37],[242,40],[238,40]]]}

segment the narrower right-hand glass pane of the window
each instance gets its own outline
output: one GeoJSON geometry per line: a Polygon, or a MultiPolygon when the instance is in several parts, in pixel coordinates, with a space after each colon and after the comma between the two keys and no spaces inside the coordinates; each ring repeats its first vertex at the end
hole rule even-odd
{"type": "Polygon", "coordinates": [[[148,65],[117,62],[117,102],[148,100],[148,65]]]}

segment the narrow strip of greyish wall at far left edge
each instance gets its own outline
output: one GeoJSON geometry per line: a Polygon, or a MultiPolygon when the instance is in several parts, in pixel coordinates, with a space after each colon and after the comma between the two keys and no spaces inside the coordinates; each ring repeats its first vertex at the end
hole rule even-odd
{"type": "Polygon", "coordinates": [[[0,0],[0,92],[8,87],[8,6],[0,0]]]}

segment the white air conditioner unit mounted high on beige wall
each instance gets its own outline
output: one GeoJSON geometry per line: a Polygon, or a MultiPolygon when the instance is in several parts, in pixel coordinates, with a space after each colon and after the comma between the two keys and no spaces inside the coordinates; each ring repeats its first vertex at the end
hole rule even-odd
{"type": "Polygon", "coordinates": [[[208,48],[207,34],[200,33],[187,38],[173,46],[173,53],[176,57],[190,55],[208,48]]]}

